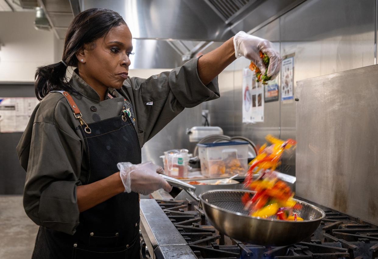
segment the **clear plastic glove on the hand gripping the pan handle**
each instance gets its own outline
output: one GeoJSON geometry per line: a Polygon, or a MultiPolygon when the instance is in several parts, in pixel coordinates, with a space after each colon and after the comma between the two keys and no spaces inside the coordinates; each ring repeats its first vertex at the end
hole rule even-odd
{"type": "Polygon", "coordinates": [[[162,188],[167,192],[172,191],[172,186],[158,174],[163,172],[163,168],[152,162],[143,164],[124,162],[118,163],[117,167],[125,192],[133,191],[147,195],[162,188]]]}

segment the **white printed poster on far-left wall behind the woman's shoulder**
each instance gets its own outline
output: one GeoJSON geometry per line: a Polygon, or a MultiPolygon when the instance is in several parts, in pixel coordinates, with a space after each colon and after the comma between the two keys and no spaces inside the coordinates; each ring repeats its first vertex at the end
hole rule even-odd
{"type": "Polygon", "coordinates": [[[38,103],[34,97],[0,98],[0,133],[23,132],[38,103]]]}

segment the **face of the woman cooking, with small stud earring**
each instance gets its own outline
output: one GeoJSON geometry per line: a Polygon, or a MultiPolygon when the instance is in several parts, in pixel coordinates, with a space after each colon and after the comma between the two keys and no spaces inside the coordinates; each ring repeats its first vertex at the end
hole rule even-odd
{"type": "Polygon", "coordinates": [[[85,44],[77,54],[79,74],[92,87],[121,88],[129,73],[129,56],[133,50],[129,27],[124,24],[113,27],[93,43],[85,44]]]}

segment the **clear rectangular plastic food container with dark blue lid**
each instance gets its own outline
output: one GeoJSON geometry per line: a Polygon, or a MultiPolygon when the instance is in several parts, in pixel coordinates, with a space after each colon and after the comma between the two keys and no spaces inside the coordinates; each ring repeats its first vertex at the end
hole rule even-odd
{"type": "Polygon", "coordinates": [[[244,176],[248,169],[248,142],[197,144],[201,172],[206,177],[244,176]]]}

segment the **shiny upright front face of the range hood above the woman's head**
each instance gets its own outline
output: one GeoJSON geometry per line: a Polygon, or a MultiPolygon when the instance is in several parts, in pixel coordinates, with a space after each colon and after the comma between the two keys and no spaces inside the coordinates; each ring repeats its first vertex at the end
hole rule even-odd
{"type": "Polygon", "coordinates": [[[119,12],[135,39],[225,41],[234,35],[203,0],[83,0],[83,9],[92,7],[119,12]]]}

